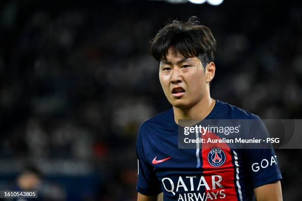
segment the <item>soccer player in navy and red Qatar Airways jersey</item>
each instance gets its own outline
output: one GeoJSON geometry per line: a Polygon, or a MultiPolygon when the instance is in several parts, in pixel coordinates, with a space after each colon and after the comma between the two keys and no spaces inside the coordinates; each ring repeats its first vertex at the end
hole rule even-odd
{"type": "Polygon", "coordinates": [[[253,192],[257,201],[282,201],[273,149],[178,149],[181,119],[259,120],[210,97],[215,45],[196,17],[167,24],[152,40],[160,84],[173,108],[139,129],[138,201],[156,201],[161,192],[164,201],[252,201],[253,192]]]}

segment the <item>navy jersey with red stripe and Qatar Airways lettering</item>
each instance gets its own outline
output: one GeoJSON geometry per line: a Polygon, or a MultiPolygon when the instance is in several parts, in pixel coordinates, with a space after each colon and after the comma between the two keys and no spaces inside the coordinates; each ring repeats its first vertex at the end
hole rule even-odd
{"type": "MultiPolygon", "coordinates": [[[[216,100],[205,119],[259,117],[216,100]]],[[[173,109],[141,125],[137,156],[137,191],[163,192],[164,201],[251,201],[254,188],[282,179],[273,149],[178,149],[173,109]],[[210,164],[208,157],[217,157],[217,163],[210,164]]]]}

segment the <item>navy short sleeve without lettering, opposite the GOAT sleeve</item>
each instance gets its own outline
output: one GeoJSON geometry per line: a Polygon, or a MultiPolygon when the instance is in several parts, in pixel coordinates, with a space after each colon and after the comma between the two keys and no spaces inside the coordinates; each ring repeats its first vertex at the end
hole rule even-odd
{"type": "Polygon", "coordinates": [[[138,157],[138,180],[136,190],[143,195],[157,195],[161,193],[160,183],[157,180],[153,167],[146,160],[145,150],[149,149],[148,139],[146,136],[143,125],[140,127],[137,142],[136,153],[138,157]],[[145,150],[144,150],[145,148],[145,150]]]}

